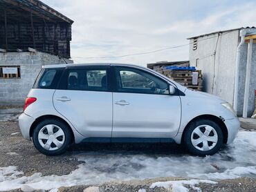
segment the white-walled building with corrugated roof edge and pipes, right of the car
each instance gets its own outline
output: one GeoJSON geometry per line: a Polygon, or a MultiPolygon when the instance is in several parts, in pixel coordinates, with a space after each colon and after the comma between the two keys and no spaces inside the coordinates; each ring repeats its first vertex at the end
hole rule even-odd
{"type": "Polygon", "coordinates": [[[255,109],[256,28],[235,28],[188,38],[190,66],[203,73],[203,90],[232,104],[237,115],[255,109]]]}

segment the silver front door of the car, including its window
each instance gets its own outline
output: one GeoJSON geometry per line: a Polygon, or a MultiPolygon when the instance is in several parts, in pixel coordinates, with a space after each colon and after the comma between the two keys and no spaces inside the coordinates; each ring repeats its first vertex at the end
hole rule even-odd
{"type": "Polygon", "coordinates": [[[174,137],[181,122],[179,95],[169,84],[145,70],[114,67],[112,137],[174,137]]]}

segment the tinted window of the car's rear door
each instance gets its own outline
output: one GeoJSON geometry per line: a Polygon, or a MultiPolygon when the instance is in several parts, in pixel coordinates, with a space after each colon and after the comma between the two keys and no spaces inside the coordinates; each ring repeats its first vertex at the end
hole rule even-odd
{"type": "Polygon", "coordinates": [[[107,69],[68,70],[67,89],[107,91],[107,69]]]}

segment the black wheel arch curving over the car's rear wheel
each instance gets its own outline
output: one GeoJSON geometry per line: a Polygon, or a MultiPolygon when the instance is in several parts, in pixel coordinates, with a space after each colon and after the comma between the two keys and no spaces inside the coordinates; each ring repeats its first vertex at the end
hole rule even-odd
{"type": "Polygon", "coordinates": [[[29,130],[30,137],[32,137],[33,131],[35,130],[35,127],[37,126],[37,124],[39,124],[39,122],[44,121],[45,119],[55,119],[66,124],[66,126],[68,126],[68,128],[71,131],[71,142],[75,142],[75,135],[73,133],[71,126],[64,119],[56,115],[43,115],[43,116],[37,117],[37,119],[35,119],[35,122],[33,122],[33,124],[30,126],[30,130],[29,130]]]}

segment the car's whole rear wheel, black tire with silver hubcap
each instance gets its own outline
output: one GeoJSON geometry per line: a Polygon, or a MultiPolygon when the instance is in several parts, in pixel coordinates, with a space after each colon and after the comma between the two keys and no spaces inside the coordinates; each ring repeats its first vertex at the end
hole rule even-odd
{"type": "Polygon", "coordinates": [[[71,143],[71,131],[63,122],[46,119],[35,127],[33,143],[44,155],[60,155],[71,143]]]}

